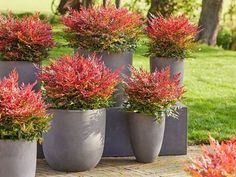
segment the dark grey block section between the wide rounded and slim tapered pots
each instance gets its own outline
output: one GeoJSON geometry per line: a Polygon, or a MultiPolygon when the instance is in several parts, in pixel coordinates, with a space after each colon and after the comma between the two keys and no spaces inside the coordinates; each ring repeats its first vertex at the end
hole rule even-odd
{"type": "Polygon", "coordinates": [[[107,109],[106,138],[103,156],[125,157],[133,155],[129,136],[129,113],[121,108],[107,109]]]}

